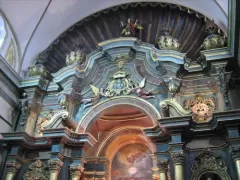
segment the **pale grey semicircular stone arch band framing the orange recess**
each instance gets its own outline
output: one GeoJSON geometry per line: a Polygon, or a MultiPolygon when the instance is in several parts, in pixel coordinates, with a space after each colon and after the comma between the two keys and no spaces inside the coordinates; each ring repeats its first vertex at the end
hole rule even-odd
{"type": "Polygon", "coordinates": [[[131,105],[138,108],[152,120],[154,125],[157,124],[157,119],[161,118],[158,110],[148,101],[134,96],[118,96],[100,102],[90,109],[78,123],[76,132],[88,132],[91,124],[97,120],[101,113],[115,105],[131,105]]]}

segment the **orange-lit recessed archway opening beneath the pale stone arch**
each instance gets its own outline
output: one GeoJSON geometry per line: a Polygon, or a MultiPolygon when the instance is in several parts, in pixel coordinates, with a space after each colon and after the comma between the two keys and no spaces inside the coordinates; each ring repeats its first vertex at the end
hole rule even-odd
{"type": "Polygon", "coordinates": [[[113,105],[101,111],[88,126],[96,140],[94,148],[84,147],[84,157],[106,157],[112,180],[152,178],[151,154],[155,146],[142,129],[156,124],[133,105],[113,105]]]}

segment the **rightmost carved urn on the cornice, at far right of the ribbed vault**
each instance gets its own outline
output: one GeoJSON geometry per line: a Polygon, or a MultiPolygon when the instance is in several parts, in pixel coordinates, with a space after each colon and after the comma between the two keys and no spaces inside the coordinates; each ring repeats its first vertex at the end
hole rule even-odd
{"type": "Polygon", "coordinates": [[[221,35],[220,29],[212,21],[206,23],[205,32],[208,36],[204,39],[202,48],[205,50],[222,48],[226,46],[227,38],[221,35]]]}

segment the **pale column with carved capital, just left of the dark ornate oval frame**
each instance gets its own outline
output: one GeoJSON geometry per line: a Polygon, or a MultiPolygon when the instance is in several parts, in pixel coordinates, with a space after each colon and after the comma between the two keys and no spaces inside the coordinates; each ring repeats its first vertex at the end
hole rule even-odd
{"type": "Polygon", "coordinates": [[[175,180],[184,180],[184,152],[171,152],[174,163],[175,180]]]}

